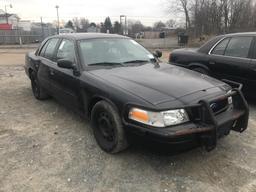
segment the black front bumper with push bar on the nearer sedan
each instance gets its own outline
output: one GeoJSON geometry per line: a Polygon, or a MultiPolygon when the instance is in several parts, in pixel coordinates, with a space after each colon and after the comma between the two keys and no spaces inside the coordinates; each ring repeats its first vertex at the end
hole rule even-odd
{"type": "Polygon", "coordinates": [[[228,80],[223,81],[232,86],[231,92],[211,101],[201,100],[197,105],[185,107],[187,110],[198,109],[199,121],[167,128],[149,128],[126,122],[127,130],[160,143],[182,144],[197,140],[207,151],[214,149],[217,140],[228,135],[230,130],[243,132],[248,126],[249,107],[241,92],[242,85],[228,80]],[[228,97],[232,97],[233,106],[215,114],[210,107],[211,103],[228,97]]]}

